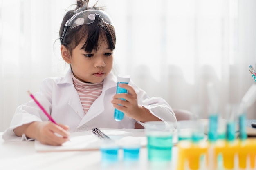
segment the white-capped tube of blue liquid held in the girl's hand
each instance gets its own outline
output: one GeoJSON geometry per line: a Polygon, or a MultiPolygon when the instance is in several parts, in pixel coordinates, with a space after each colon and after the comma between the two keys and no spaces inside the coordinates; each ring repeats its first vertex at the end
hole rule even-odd
{"type": "MultiPolygon", "coordinates": [[[[121,75],[121,74],[117,75],[117,94],[127,93],[127,90],[124,89],[124,88],[119,87],[119,84],[120,83],[128,84],[129,82],[130,82],[130,76],[129,75],[121,75]]],[[[125,100],[125,99],[121,99],[121,100],[125,100]]],[[[124,118],[124,113],[115,108],[114,118],[115,118],[116,121],[121,121],[124,118]]]]}

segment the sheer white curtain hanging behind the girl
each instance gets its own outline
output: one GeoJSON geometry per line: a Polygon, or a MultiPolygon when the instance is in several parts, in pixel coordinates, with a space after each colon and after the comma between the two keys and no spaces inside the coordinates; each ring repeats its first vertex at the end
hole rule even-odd
{"type": "MultiPolygon", "coordinates": [[[[0,0],[0,131],[46,77],[65,74],[58,31],[75,0],[0,0]]],[[[90,0],[94,4],[96,0],[90,0]]],[[[220,113],[254,84],[255,0],[99,0],[114,20],[117,73],[151,97],[208,117],[207,84],[220,113]]],[[[255,104],[255,102],[254,102],[255,104]]],[[[256,107],[247,110],[256,119],[256,107]]]]}

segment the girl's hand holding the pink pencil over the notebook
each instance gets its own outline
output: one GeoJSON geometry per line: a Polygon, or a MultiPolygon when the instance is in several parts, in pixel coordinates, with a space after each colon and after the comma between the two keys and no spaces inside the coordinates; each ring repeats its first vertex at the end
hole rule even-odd
{"type": "Polygon", "coordinates": [[[56,125],[51,121],[36,121],[30,126],[28,129],[31,130],[34,127],[34,137],[42,144],[57,146],[69,140],[69,128],[63,124],[56,125]]]}

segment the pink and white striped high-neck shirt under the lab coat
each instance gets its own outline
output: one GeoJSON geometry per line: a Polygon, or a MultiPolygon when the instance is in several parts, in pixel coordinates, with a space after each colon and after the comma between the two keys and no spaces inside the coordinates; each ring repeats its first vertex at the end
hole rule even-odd
{"type": "Polygon", "coordinates": [[[77,79],[73,73],[72,78],[83,106],[84,113],[86,114],[93,102],[101,95],[103,81],[99,83],[85,83],[77,79]]]}

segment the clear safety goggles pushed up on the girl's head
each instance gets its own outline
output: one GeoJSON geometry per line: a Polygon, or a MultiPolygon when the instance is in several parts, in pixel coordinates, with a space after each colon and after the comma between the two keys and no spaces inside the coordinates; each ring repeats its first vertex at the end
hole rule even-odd
{"type": "Polygon", "coordinates": [[[63,34],[61,36],[61,42],[65,37],[65,34],[67,32],[67,27],[70,27],[72,29],[72,28],[75,28],[76,26],[91,24],[95,21],[96,15],[98,15],[99,18],[101,18],[101,20],[103,20],[106,24],[113,25],[112,19],[105,11],[94,10],[94,9],[81,11],[73,15],[69,20],[67,20],[64,27],[63,34]]]}

